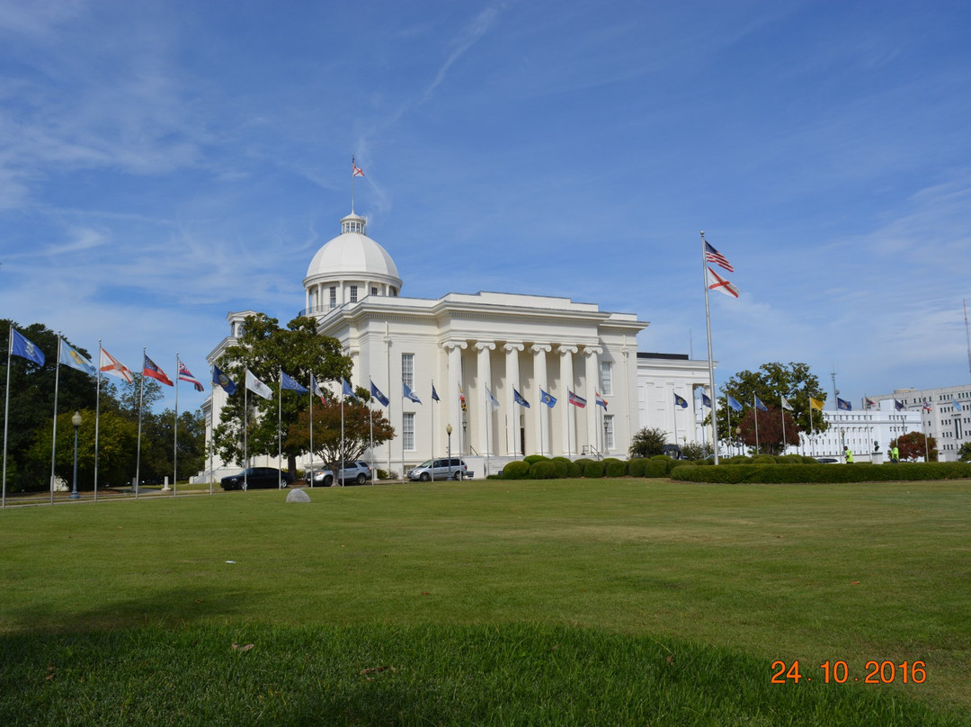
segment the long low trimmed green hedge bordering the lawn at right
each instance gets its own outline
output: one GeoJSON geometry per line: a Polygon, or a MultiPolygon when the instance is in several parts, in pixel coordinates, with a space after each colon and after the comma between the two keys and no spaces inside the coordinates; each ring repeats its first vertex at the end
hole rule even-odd
{"type": "Polygon", "coordinates": [[[971,465],[963,462],[918,462],[898,465],[732,465],[678,467],[671,479],[725,485],[740,483],[892,482],[899,480],[967,479],[971,465]]]}

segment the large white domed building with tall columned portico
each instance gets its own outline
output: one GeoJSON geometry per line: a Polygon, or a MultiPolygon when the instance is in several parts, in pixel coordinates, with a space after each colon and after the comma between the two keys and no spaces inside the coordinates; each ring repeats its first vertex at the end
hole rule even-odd
{"type": "MultiPolygon", "coordinates": [[[[708,363],[638,352],[637,334],[649,324],[635,314],[550,295],[403,297],[394,261],[353,212],[311,260],[303,286],[301,313],[314,316],[319,333],[351,356],[352,386],[374,382],[390,399],[383,410],[396,437],[365,455],[374,467],[400,472],[445,455],[450,424],[452,454],[477,476],[523,454],[626,457],[643,427],[664,429],[671,442],[696,441],[693,389],[707,384],[708,363]],[[404,398],[404,385],[421,403],[404,398]],[[541,402],[543,392],[555,398],[552,407],[541,402]],[[571,392],[586,406],[570,404],[571,392]],[[688,408],[674,406],[675,394],[688,408]],[[596,405],[597,395],[606,407],[596,405]]],[[[210,363],[235,343],[252,313],[227,316],[229,335],[210,363]]],[[[218,422],[225,396],[217,389],[204,406],[207,443],[210,414],[218,422]]],[[[276,465],[260,460],[252,464],[276,465]]]]}

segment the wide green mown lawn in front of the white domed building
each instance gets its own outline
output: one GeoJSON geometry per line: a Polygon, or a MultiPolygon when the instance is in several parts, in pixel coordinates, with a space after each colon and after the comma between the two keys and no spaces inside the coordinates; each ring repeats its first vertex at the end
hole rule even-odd
{"type": "Polygon", "coordinates": [[[0,722],[971,724],[967,483],[308,492],[4,511],[0,722]]]}

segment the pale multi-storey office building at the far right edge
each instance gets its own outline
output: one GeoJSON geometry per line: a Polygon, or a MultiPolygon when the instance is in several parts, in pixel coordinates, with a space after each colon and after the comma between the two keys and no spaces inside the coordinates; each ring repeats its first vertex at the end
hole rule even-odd
{"type": "Polygon", "coordinates": [[[908,432],[922,432],[937,442],[941,462],[955,462],[957,451],[971,441],[971,384],[939,389],[895,389],[893,394],[870,397],[913,414],[919,423],[908,432]],[[926,404],[926,405],[925,405],[926,404]]]}

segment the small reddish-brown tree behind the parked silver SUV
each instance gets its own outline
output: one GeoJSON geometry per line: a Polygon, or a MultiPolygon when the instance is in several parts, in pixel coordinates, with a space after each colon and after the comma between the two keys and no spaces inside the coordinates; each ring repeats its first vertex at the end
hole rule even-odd
{"type": "MultiPolygon", "coordinates": [[[[313,455],[328,466],[341,461],[356,460],[371,446],[374,432],[375,445],[394,438],[394,429],[385,419],[384,412],[371,410],[366,405],[348,399],[344,403],[344,440],[341,441],[341,402],[328,400],[314,404],[314,452],[313,455]]],[[[295,425],[290,427],[286,445],[301,452],[310,452],[310,411],[301,411],[295,425]]]]}

